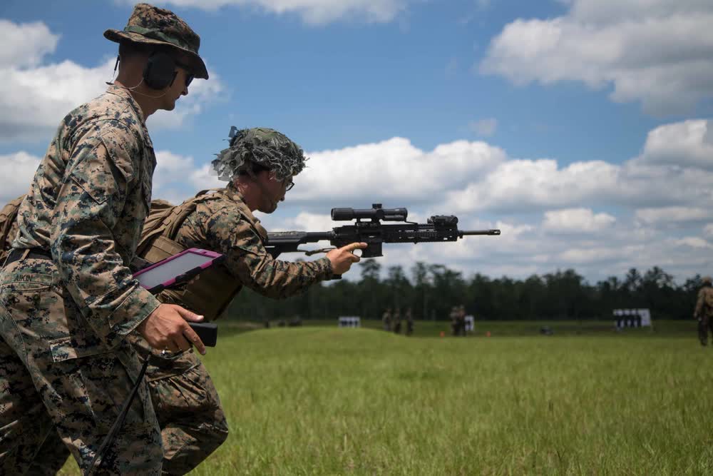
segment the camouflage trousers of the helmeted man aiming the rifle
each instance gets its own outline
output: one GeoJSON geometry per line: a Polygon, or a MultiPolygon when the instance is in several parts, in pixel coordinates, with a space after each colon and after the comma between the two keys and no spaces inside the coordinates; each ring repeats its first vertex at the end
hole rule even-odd
{"type": "MultiPolygon", "coordinates": [[[[162,357],[138,335],[128,337],[142,360],[163,440],[163,474],[183,475],[227,437],[227,422],[215,386],[200,359],[188,350],[162,357]]],[[[45,440],[30,474],[55,474],[69,452],[56,432],[45,440]]]]}

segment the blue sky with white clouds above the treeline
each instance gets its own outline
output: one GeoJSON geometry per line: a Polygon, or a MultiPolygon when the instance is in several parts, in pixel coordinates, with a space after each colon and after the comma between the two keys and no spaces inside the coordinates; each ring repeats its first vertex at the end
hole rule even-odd
{"type": "MultiPolygon", "coordinates": [[[[205,166],[230,126],[268,126],[312,156],[261,217],[269,229],[324,229],[333,206],[379,201],[503,228],[452,248],[389,247],[385,265],[711,273],[713,6],[678,3],[158,2],[200,34],[211,79],[148,121],[155,197],[214,185],[205,166]]],[[[0,6],[4,201],[26,189],[63,114],[110,79],[116,45],[102,33],[132,6],[0,6]]]]}

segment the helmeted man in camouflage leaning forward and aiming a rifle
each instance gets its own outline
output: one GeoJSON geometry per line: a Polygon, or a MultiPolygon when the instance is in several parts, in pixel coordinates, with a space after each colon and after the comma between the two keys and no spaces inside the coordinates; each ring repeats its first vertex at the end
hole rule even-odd
{"type": "MultiPolygon", "coordinates": [[[[154,201],[138,246],[142,258],[155,263],[187,248],[204,248],[225,256],[222,264],[205,270],[187,285],[160,293],[159,300],[200,310],[206,320],[215,320],[243,286],[280,299],[331,278],[334,268],[328,257],[299,263],[273,259],[265,250],[267,231],[252,214],[255,206],[251,207],[241,192],[244,183],[262,184],[252,188],[260,192],[260,200],[265,199],[256,208],[270,213],[291,188],[289,183],[302,171],[305,160],[302,149],[282,133],[269,128],[237,131],[230,147],[213,161],[218,176],[230,181],[227,187],[202,191],[175,207],[154,201]]],[[[354,249],[352,245],[344,248],[354,249]]],[[[348,258],[350,263],[359,260],[347,254],[341,259],[348,258]]],[[[192,351],[171,359],[149,348],[143,353],[151,355],[146,375],[163,434],[164,468],[170,468],[171,474],[188,472],[227,437],[220,398],[192,351]]]]}

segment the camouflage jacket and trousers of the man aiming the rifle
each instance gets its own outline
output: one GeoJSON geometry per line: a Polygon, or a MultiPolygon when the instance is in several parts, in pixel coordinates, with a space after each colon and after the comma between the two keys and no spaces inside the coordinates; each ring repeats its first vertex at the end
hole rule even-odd
{"type": "MultiPolygon", "coordinates": [[[[275,260],[265,250],[266,236],[234,187],[215,191],[212,199],[199,201],[176,233],[167,238],[183,249],[205,248],[225,255],[223,264],[215,268],[237,285],[231,286],[230,292],[219,286],[195,292],[197,280],[213,282],[210,278],[217,270],[209,268],[192,283],[165,290],[159,299],[183,305],[211,320],[217,316],[204,312],[205,301],[212,300],[219,303],[217,308],[224,308],[241,285],[270,298],[287,298],[332,276],[329,258],[303,263],[275,260]]],[[[214,303],[212,308],[216,308],[214,303]]],[[[150,364],[146,375],[163,432],[164,470],[171,474],[188,472],[227,437],[220,399],[210,375],[193,353],[172,360],[153,351],[150,364]]]]}

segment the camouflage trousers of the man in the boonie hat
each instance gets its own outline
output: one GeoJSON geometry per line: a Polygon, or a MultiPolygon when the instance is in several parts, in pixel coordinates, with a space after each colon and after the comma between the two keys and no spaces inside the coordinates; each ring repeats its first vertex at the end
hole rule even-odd
{"type": "MultiPolygon", "coordinates": [[[[138,376],[132,346],[107,348],[59,282],[49,260],[0,270],[0,474],[28,472],[46,456],[48,437],[86,471],[138,376]]],[[[162,460],[148,385],[140,385],[95,474],[158,475],[162,460]]]]}

